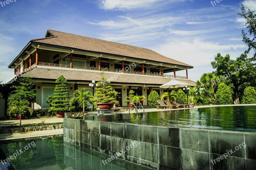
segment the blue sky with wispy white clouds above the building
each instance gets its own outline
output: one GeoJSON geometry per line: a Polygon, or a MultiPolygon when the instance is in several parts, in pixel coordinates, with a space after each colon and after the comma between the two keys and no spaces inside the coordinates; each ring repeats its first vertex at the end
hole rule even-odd
{"type": "Polygon", "coordinates": [[[102,0],[16,0],[0,5],[0,81],[13,76],[7,66],[47,29],[152,49],[193,65],[188,77],[196,81],[213,71],[210,63],[217,53],[235,59],[246,49],[245,21],[237,15],[242,3],[256,10],[256,0],[222,0],[214,6],[209,0],[112,0],[105,5],[102,0]]]}

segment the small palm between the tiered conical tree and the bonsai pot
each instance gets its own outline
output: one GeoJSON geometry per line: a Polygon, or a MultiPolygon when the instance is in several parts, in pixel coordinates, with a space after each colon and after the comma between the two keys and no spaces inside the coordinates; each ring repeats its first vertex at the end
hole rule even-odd
{"type": "Polygon", "coordinates": [[[70,106],[75,106],[78,103],[82,108],[83,112],[87,105],[87,102],[92,104],[92,93],[90,91],[86,91],[84,89],[78,89],[74,92],[74,98],[69,101],[70,106]]]}

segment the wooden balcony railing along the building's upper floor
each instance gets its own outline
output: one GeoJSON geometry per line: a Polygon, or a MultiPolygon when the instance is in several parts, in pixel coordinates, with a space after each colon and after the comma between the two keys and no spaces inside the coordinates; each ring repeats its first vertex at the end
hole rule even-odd
{"type": "MultiPolygon", "coordinates": [[[[70,68],[70,65],[65,65],[65,64],[54,64],[54,63],[42,63],[42,62],[38,62],[38,65],[41,66],[50,66],[50,67],[63,67],[63,68],[70,68]]],[[[31,67],[29,67],[26,70],[29,70],[30,68],[34,67],[35,64],[33,64],[31,67]]],[[[73,65],[72,66],[73,69],[83,69],[83,70],[99,70],[99,68],[97,67],[86,67],[86,66],[76,66],[73,65]]],[[[109,72],[119,72],[122,73],[122,70],[115,70],[115,69],[105,69],[105,71],[109,71],[109,72]]],[[[129,74],[139,74],[139,75],[143,75],[142,72],[137,72],[137,71],[126,71],[124,70],[124,73],[129,73],[129,74]]],[[[144,73],[144,75],[148,75],[148,76],[160,76],[160,74],[155,74],[155,73],[144,73]]],[[[174,76],[172,75],[161,75],[161,77],[170,77],[170,78],[174,78],[174,76]]],[[[187,79],[187,77],[183,77],[183,76],[176,76],[176,78],[184,78],[187,79]]]]}

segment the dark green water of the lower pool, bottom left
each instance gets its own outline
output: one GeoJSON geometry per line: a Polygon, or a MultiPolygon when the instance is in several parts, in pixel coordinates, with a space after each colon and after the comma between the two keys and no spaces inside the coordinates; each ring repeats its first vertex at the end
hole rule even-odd
{"type": "MultiPolygon", "coordinates": [[[[20,149],[24,150],[33,141],[19,141],[0,144],[0,161],[17,153],[20,149]],[[17,150],[17,151],[16,151],[17,150]]],[[[85,148],[63,142],[63,137],[34,140],[31,147],[12,159],[7,164],[0,162],[1,170],[75,170],[75,169],[92,169],[92,170],[148,170],[135,164],[127,163],[122,160],[107,161],[105,165],[102,159],[110,157],[87,150],[85,148]],[[35,147],[33,147],[35,146],[35,147]]],[[[19,152],[20,153],[20,152],[19,152]]]]}

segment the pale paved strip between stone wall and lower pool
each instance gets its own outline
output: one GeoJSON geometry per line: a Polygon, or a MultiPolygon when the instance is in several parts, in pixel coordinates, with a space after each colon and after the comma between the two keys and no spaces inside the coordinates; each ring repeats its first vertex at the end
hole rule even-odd
{"type": "Polygon", "coordinates": [[[31,132],[21,132],[21,133],[5,133],[5,134],[0,134],[0,141],[1,140],[27,138],[27,137],[59,135],[59,134],[63,134],[63,129],[31,131],[31,132]]]}

